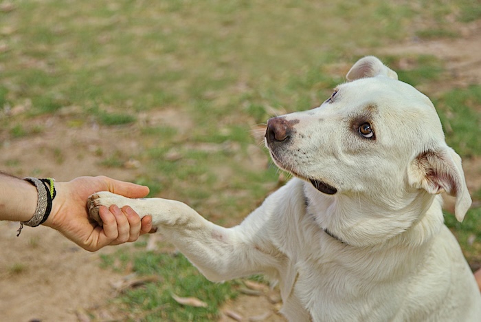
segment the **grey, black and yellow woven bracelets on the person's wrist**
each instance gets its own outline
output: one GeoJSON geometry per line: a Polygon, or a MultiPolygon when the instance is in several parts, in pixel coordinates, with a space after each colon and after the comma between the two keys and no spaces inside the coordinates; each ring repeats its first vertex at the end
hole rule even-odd
{"type": "Polygon", "coordinates": [[[36,209],[33,217],[27,222],[20,222],[20,228],[17,230],[16,236],[19,237],[23,225],[30,227],[36,227],[43,224],[47,220],[50,212],[52,211],[52,201],[56,196],[54,182],[52,178],[47,179],[37,179],[32,177],[23,178],[23,180],[30,182],[36,188],[38,193],[38,199],[36,203],[36,209]],[[47,187],[48,184],[48,187],[47,187]]]}

